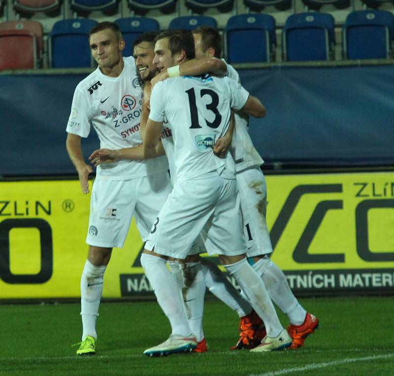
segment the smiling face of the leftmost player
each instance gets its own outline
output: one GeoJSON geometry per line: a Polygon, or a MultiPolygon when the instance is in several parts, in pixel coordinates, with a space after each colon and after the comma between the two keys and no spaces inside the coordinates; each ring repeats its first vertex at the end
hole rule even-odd
{"type": "Polygon", "coordinates": [[[124,39],[117,40],[115,33],[110,29],[101,30],[92,34],[89,40],[93,58],[100,68],[112,68],[122,59],[122,50],[125,48],[124,39]]]}

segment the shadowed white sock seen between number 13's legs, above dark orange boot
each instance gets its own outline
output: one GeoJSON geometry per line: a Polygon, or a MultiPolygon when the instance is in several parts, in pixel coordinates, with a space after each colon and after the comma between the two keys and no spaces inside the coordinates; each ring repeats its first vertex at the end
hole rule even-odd
{"type": "Polygon", "coordinates": [[[209,291],[236,311],[239,317],[252,312],[250,303],[239,294],[222,271],[206,257],[201,257],[201,269],[204,273],[205,285],[209,291]]]}

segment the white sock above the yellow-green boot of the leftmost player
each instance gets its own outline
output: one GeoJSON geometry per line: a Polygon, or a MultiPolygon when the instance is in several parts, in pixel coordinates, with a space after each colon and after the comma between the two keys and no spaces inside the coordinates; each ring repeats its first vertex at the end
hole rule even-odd
{"type": "Polygon", "coordinates": [[[81,276],[82,341],[86,336],[97,339],[96,321],[102,295],[102,283],[106,265],[94,266],[86,260],[81,276]]]}

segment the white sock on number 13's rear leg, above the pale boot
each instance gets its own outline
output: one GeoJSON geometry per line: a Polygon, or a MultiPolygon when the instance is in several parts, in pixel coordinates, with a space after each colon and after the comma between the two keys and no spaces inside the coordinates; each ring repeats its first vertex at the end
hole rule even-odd
{"type": "Polygon", "coordinates": [[[235,264],[224,265],[245,292],[256,313],[263,319],[267,336],[277,337],[283,330],[278,315],[266,291],[262,278],[249,265],[246,258],[235,264]]]}

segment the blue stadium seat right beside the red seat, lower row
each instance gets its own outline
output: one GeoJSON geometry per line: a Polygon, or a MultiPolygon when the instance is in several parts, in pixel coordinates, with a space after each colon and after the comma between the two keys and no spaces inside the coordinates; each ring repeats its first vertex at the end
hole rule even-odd
{"type": "Polygon", "coordinates": [[[48,52],[52,68],[92,67],[88,43],[95,20],[75,18],[55,22],[48,38],[48,52]]]}

